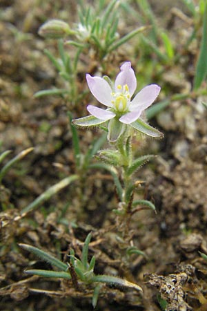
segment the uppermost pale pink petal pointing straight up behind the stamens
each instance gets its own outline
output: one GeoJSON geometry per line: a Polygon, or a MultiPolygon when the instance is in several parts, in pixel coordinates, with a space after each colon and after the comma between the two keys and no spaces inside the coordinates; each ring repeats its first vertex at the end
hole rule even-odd
{"type": "Polygon", "coordinates": [[[117,88],[118,85],[124,86],[125,84],[127,84],[129,88],[129,93],[132,96],[137,88],[135,71],[131,68],[130,62],[125,62],[120,69],[121,73],[117,75],[117,78],[115,80],[115,92],[120,91],[117,88]]]}

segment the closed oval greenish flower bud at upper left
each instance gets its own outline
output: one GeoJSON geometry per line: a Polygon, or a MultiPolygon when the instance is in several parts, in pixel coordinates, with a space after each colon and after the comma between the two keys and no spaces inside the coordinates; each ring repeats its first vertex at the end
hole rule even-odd
{"type": "Polygon", "coordinates": [[[66,21],[51,19],[39,28],[38,34],[44,38],[59,39],[71,35],[73,31],[66,21]]]}

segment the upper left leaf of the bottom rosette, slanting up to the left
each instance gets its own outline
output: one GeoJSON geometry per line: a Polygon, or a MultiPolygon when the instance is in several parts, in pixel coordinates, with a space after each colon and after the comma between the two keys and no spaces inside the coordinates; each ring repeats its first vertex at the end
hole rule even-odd
{"type": "Polygon", "coordinates": [[[68,265],[66,265],[66,263],[59,261],[59,259],[57,259],[54,256],[44,252],[42,249],[39,249],[37,247],[31,246],[28,244],[22,244],[22,243],[20,243],[19,246],[22,247],[23,249],[26,249],[28,252],[31,252],[32,254],[38,256],[43,261],[46,261],[46,262],[50,263],[51,265],[57,267],[59,270],[62,270],[62,271],[68,270],[68,265]]]}

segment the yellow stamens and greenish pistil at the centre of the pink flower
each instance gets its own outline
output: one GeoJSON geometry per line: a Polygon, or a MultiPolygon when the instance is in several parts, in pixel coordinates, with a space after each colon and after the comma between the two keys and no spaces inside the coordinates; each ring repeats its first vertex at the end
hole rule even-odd
{"type": "Polygon", "coordinates": [[[114,100],[112,100],[112,104],[116,111],[119,111],[119,113],[124,113],[127,111],[128,103],[130,102],[128,85],[125,84],[124,86],[121,86],[119,84],[117,88],[120,91],[118,91],[117,93],[112,93],[112,97],[114,97],[114,100]]]}

